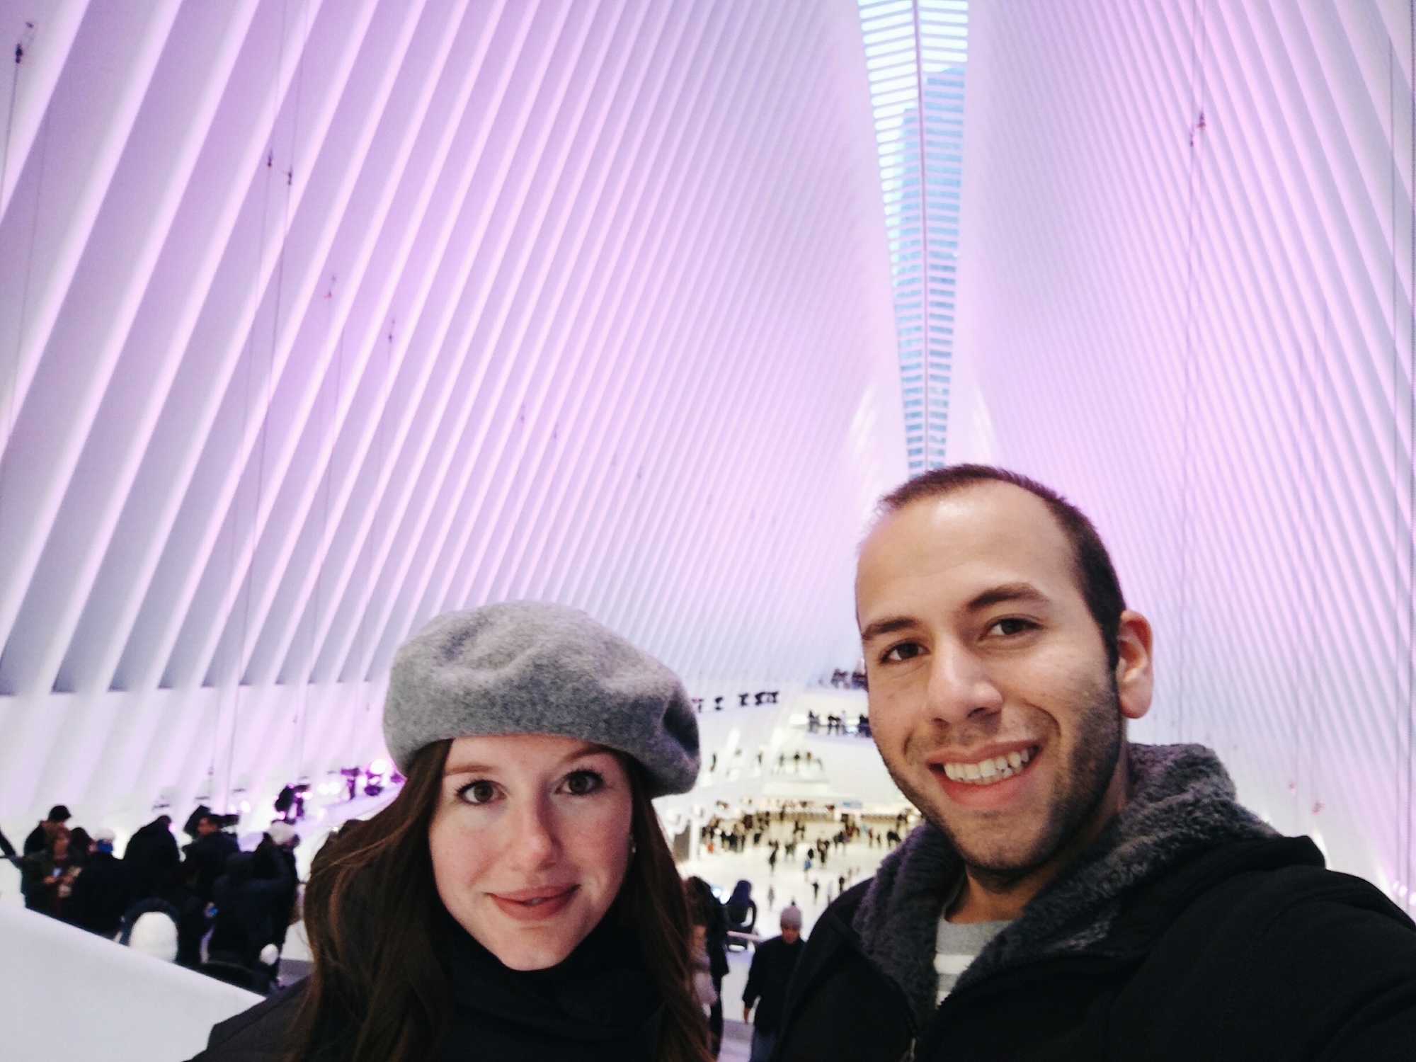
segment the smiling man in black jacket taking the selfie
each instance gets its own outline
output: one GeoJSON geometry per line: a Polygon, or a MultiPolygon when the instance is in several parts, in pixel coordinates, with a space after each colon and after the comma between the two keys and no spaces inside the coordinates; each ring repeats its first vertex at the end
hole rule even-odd
{"type": "Polygon", "coordinates": [[[1082,513],[957,466],[882,503],[871,728],[925,823],[811,933],[777,1062],[1410,1058],[1416,926],[1141,746],[1151,629],[1082,513]]]}

